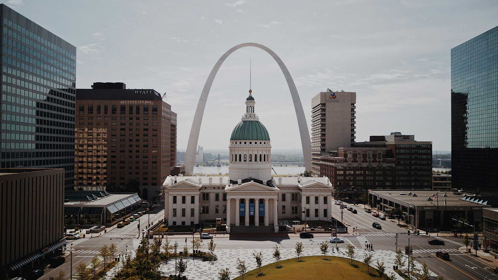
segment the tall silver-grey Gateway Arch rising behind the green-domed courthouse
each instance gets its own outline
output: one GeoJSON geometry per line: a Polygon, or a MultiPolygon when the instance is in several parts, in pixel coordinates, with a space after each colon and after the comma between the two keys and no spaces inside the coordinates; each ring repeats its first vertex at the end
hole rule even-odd
{"type": "Polygon", "coordinates": [[[301,99],[299,99],[296,85],[294,84],[294,81],[290,76],[289,70],[287,70],[287,67],[285,66],[285,64],[283,64],[280,57],[278,57],[269,48],[257,43],[243,43],[229,49],[222,55],[222,57],[220,57],[220,59],[218,59],[218,62],[216,62],[215,66],[211,70],[211,73],[209,73],[206,84],[204,84],[201,97],[199,98],[199,103],[197,104],[197,109],[195,110],[194,121],[192,122],[192,128],[190,129],[190,136],[187,143],[187,152],[185,153],[185,173],[191,175],[194,172],[195,152],[197,148],[197,142],[199,140],[199,133],[201,131],[202,117],[204,116],[204,109],[206,108],[209,91],[211,90],[211,85],[213,84],[216,73],[218,73],[221,65],[231,53],[243,47],[256,47],[266,51],[269,55],[271,55],[271,57],[273,57],[273,59],[275,59],[278,66],[280,66],[280,70],[282,70],[285,80],[287,81],[287,85],[289,86],[290,96],[292,97],[292,102],[294,103],[294,109],[296,111],[297,125],[299,127],[301,145],[303,147],[305,168],[306,170],[311,170],[311,140],[308,131],[308,125],[306,124],[306,117],[304,116],[301,99]]]}

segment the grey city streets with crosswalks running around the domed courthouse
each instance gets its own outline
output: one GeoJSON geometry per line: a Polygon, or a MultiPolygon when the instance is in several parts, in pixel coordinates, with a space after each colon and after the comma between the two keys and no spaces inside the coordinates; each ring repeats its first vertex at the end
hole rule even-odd
{"type": "MultiPolygon", "coordinates": [[[[349,205],[349,204],[348,204],[349,205]]],[[[357,256],[359,258],[368,251],[365,250],[365,243],[372,244],[373,250],[390,250],[395,251],[396,236],[395,233],[406,233],[406,230],[397,226],[396,220],[382,221],[372,216],[371,213],[365,212],[363,206],[352,205],[357,209],[358,214],[353,214],[350,211],[343,211],[343,221],[350,228],[350,234],[340,236],[345,243],[337,244],[341,251],[346,250],[347,245],[354,245],[357,248],[357,256]],[[382,229],[377,230],[372,227],[373,222],[378,222],[382,229]],[[352,227],[357,227],[358,234],[352,235],[352,227]]],[[[341,209],[338,205],[334,205],[333,217],[341,220],[341,209]]],[[[138,236],[138,223],[140,223],[140,233],[145,231],[145,225],[149,219],[151,222],[156,223],[162,219],[164,209],[157,206],[153,210],[141,216],[137,221],[131,222],[123,228],[108,229],[107,233],[92,238],[82,238],[79,240],[72,240],[67,244],[67,249],[73,250],[73,280],[77,280],[76,266],[84,262],[88,264],[90,260],[98,255],[98,250],[105,244],[111,245],[112,243],[118,246],[119,254],[126,250],[136,250],[140,243],[138,236]],[[150,214],[149,214],[150,213],[150,214]],[[150,217],[149,217],[150,215],[150,217]]],[[[278,245],[282,251],[293,251],[297,242],[303,242],[304,248],[319,254],[320,243],[327,241],[330,234],[320,234],[314,232],[315,237],[312,239],[299,238],[299,234],[289,234],[288,237],[261,237],[261,238],[230,238],[228,234],[216,235],[214,240],[217,250],[251,250],[257,252],[258,250],[271,250],[275,244],[278,245]]],[[[196,234],[196,237],[199,235],[196,234]]],[[[87,236],[88,237],[88,236],[87,236]]],[[[140,234],[141,237],[141,234],[140,234]]],[[[171,235],[168,236],[172,242],[177,242],[179,248],[183,248],[186,244],[187,247],[192,246],[192,235],[171,235]],[[186,240],[186,242],[185,242],[186,240]]],[[[429,269],[445,279],[462,279],[462,280],[484,280],[486,276],[493,275],[493,268],[483,264],[482,262],[473,259],[461,253],[458,249],[463,246],[462,239],[454,237],[431,237],[425,234],[410,235],[410,246],[413,248],[413,257],[419,263],[425,262],[429,269]],[[427,240],[431,238],[438,238],[445,242],[443,246],[429,245],[427,240]],[[435,252],[444,251],[450,254],[450,261],[444,261],[436,258],[435,252]]],[[[203,250],[207,250],[207,240],[203,240],[203,250]]],[[[335,244],[329,243],[331,247],[335,244]]],[[[398,249],[404,251],[405,246],[408,246],[408,236],[398,235],[398,249]]],[[[70,275],[70,256],[67,255],[66,262],[57,268],[45,269],[45,275],[40,279],[48,280],[54,277],[60,270],[63,270],[67,277],[70,275]]]]}

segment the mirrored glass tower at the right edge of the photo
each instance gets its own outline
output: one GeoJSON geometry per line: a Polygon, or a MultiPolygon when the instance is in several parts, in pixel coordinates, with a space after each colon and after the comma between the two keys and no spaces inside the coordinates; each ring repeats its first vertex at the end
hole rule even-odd
{"type": "Polygon", "coordinates": [[[451,49],[452,185],[498,190],[498,26],[451,49]]]}

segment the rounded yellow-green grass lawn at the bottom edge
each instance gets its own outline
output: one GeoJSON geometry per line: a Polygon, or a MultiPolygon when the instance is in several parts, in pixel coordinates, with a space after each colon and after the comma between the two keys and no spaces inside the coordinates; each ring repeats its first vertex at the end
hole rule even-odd
{"type": "MultiPolygon", "coordinates": [[[[323,256],[301,257],[280,261],[281,268],[276,268],[275,263],[261,267],[264,276],[258,277],[258,270],[252,270],[244,275],[244,280],[379,280],[377,271],[370,267],[371,274],[367,273],[367,265],[349,259],[323,256]]],[[[254,261],[253,259],[250,260],[254,261]]],[[[246,261],[248,262],[248,260],[246,261]]],[[[235,280],[242,280],[242,276],[235,280]]]]}

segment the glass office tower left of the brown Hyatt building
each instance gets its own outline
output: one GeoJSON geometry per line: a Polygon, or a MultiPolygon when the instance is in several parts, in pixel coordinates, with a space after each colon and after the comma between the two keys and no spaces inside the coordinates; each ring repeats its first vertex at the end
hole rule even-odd
{"type": "Polygon", "coordinates": [[[76,47],[0,4],[0,166],[65,169],[74,185],[76,47]]]}

